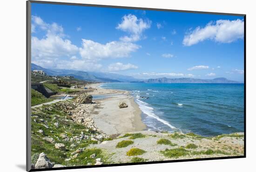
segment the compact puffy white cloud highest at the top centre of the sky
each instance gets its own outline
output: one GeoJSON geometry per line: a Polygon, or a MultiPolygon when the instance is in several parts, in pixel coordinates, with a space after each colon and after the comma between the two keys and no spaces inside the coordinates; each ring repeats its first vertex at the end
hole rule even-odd
{"type": "Polygon", "coordinates": [[[150,28],[151,23],[150,20],[138,19],[135,15],[128,14],[122,17],[122,22],[118,24],[116,29],[130,34],[129,36],[121,37],[121,41],[134,42],[141,40],[143,31],[150,28]]]}

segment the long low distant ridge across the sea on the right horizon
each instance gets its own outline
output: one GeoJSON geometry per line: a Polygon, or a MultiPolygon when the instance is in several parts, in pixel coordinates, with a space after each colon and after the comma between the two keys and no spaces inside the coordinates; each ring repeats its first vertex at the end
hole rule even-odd
{"type": "Polygon", "coordinates": [[[194,79],[194,78],[156,78],[147,79],[145,83],[241,83],[226,78],[215,78],[215,79],[194,79]]]}

